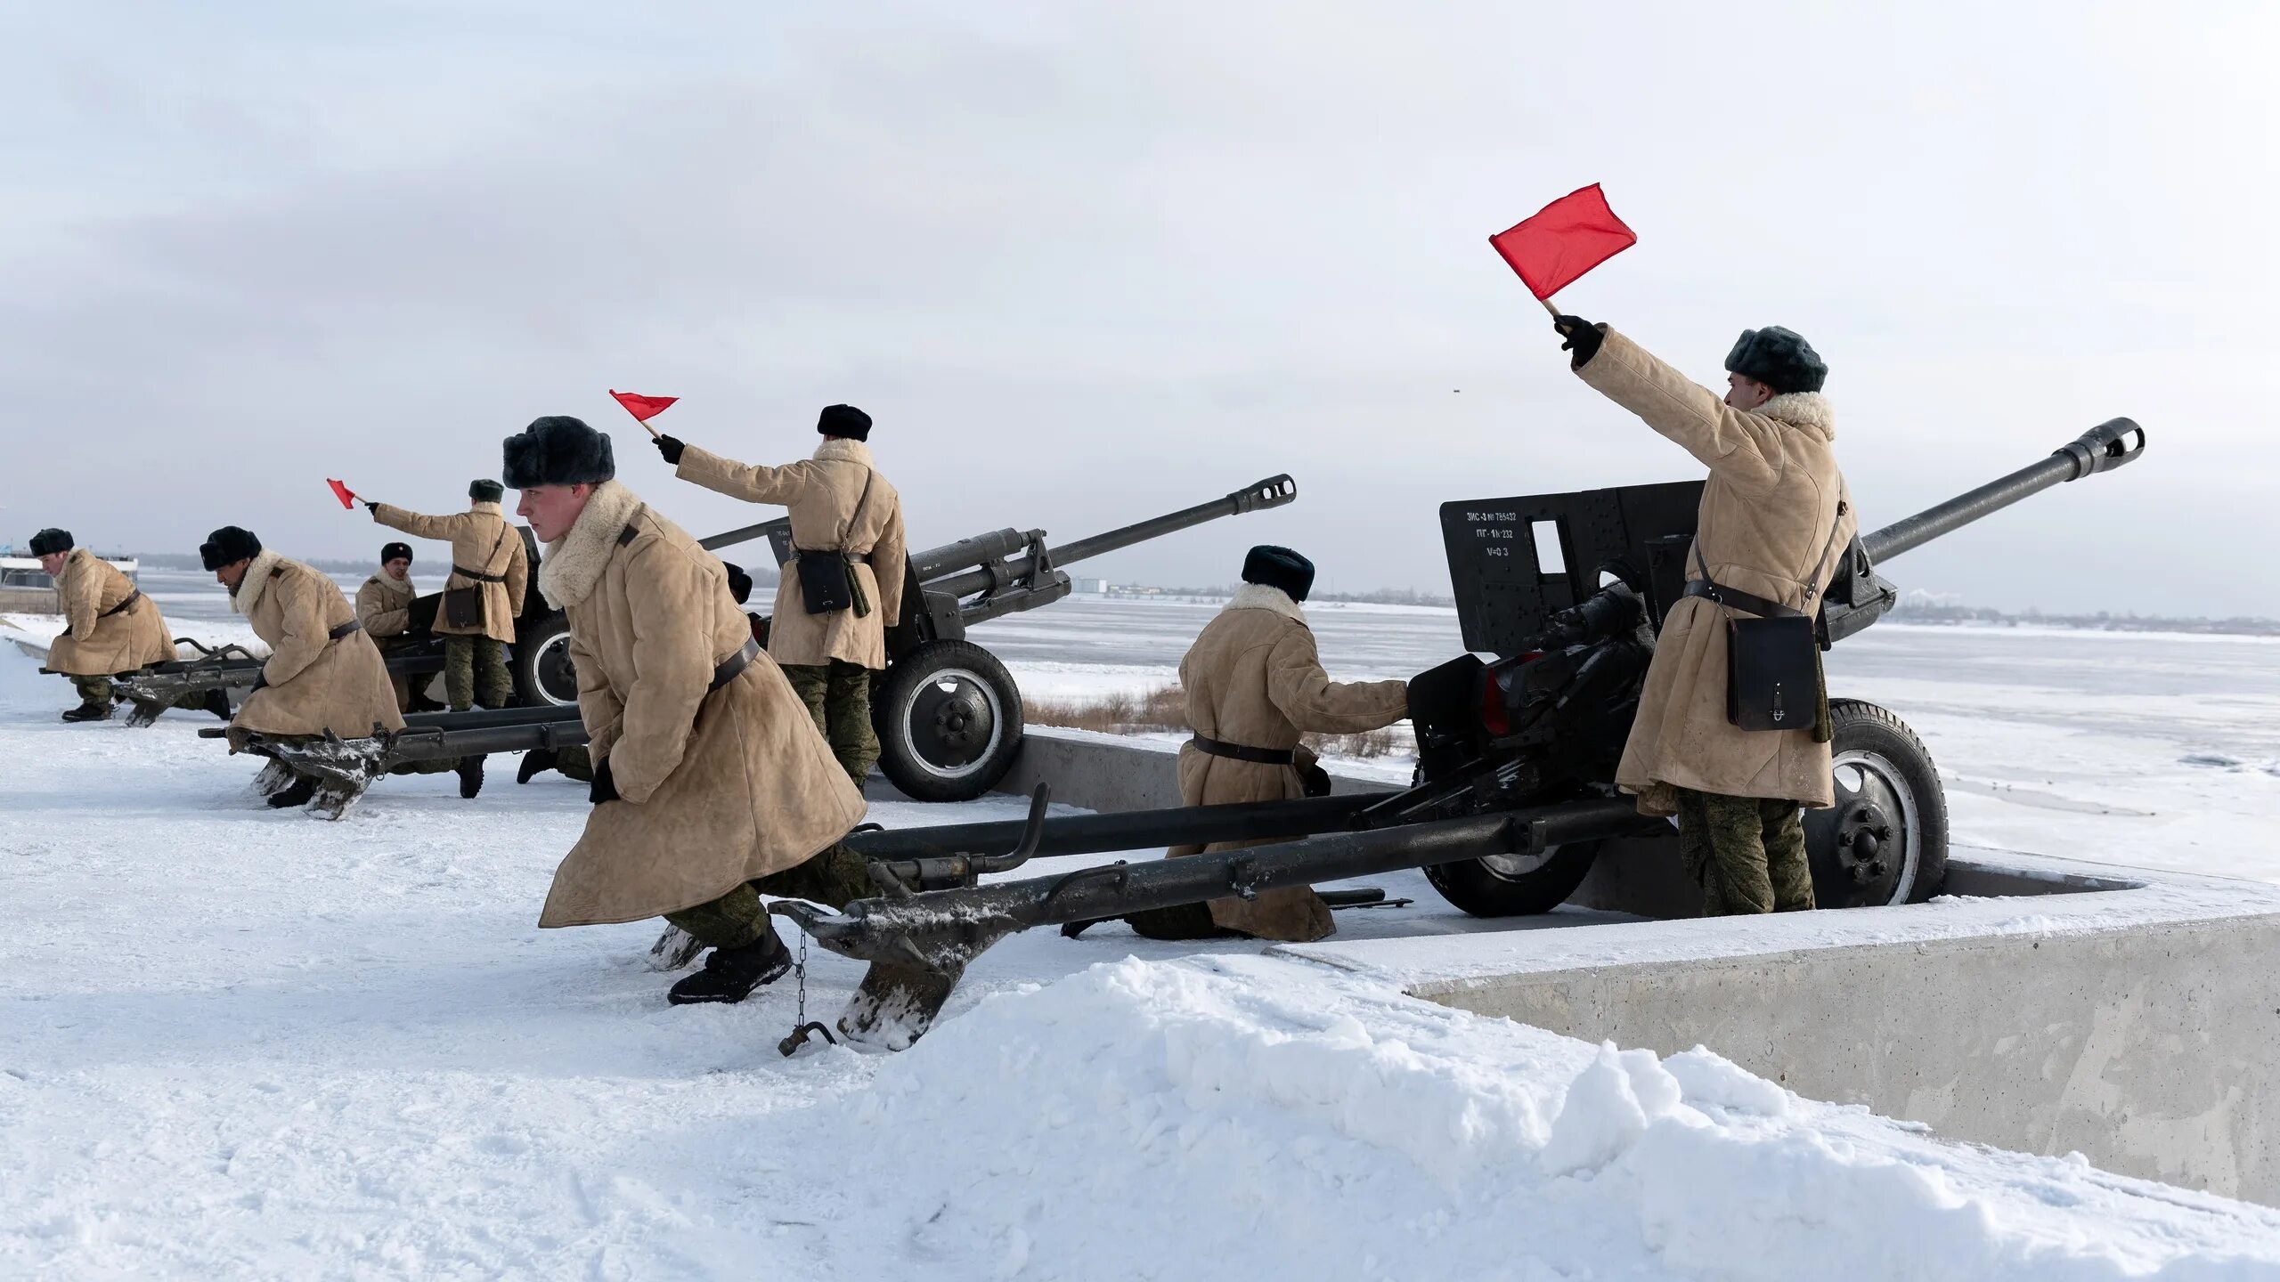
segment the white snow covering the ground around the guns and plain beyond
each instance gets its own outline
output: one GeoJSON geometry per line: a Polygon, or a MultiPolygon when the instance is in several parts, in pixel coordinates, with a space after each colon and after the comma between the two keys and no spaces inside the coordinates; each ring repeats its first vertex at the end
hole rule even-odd
{"type": "MultiPolygon", "coordinates": [[[[185,595],[178,632],[226,634],[185,595]]],[[[978,639],[1037,693],[1138,687],[1208,611],[1069,600],[978,639]]],[[[1357,677],[1457,650],[1443,611],[1316,627],[1357,677]]],[[[317,823],[246,796],[210,719],[62,725],[32,668],[0,646],[5,1277],[2280,1275],[2280,1211],[1254,944],[1015,938],[912,1052],[784,1061],[789,979],[668,1008],[652,926],[534,928],[586,812],[559,776],[495,757],[472,803],[394,778],[317,823]]],[[[1917,728],[1963,842],[2280,881],[2280,648],[1879,627],[1833,682],[1917,728]]],[[[1343,935],[1607,919],[1375,881],[1418,903],[1343,935]]],[[[816,954],[812,1013],[857,974],[816,954]]]]}

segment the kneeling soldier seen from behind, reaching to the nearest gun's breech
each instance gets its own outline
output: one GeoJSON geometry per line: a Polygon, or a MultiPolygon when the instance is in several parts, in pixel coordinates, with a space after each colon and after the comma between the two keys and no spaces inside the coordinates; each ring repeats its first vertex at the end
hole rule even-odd
{"type": "MultiPolygon", "coordinates": [[[[1313,561],[1288,547],[1252,547],[1243,559],[1243,589],[1179,662],[1188,725],[1195,730],[1195,739],[1179,750],[1181,805],[1325,794],[1329,778],[1300,746],[1302,732],[1359,735],[1409,714],[1407,682],[1329,680],[1300,607],[1311,589],[1313,561]]],[[[1174,846],[1170,858],[1259,844],[1265,842],[1174,846]]],[[[1334,931],[1329,906],[1304,885],[1268,890],[1249,901],[1215,899],[1133,912],[1126,922],[1151,940],[1254,935],[1306,942],[1334,931]]]]}

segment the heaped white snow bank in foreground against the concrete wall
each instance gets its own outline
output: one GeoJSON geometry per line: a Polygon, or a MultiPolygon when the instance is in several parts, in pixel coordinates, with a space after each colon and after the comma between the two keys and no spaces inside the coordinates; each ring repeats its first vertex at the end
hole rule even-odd
{"type": "Polygon", "coordinates": [[[955,1277],[2271,1277],[2280,1214],[1277,958],[1001,992],[814,1109],[955,1277]],[[848,1143],[894,1136],[894,1143],[848,1143]]]}

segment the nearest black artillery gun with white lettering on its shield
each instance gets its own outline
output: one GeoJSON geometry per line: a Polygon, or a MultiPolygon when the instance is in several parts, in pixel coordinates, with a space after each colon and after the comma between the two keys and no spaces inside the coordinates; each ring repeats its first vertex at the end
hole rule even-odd
{"type": "MultiPolygon", "coordinates": [[[[2134,461],[2145,433],[2111,420],[2000,481],[1860,536],[1822,598],[1831,646],[1895,602],[1876,566],[2052,486],[2134,461]]],[[[1468,650],[1409,687],[1418,769],[1404,792],[1186,808],[1026,823],[866,833],[882,896],[823,910],[777,901],[825,949],[866,960],[839,1029],[910,1045],[967,965],[1001,938],[1149,908],[1249,899],[1418,867],[1452,906],[1480,917],[1546,912],[1619,837],[1671,839],[1614,787],[1614,766],[1685,582],[1701,481],[1455,502],[1443,543],[1468,650]],[[1575,568],[1587,568],[1578,573],[1575,568]],[[1113,862],[996,881],[1035,853],[1110,853],[1172,842],[1293,837],[1179,860],[1113,862]]],[[[1913,903],[1938,894],[1947,803],[1929,753],[1890,712],[1833,700],[1835,805],[1806,814],[1824,908],[1913,903]]],[[[1042,789],[1040,789],[1042,792],[1042,789]]]]}

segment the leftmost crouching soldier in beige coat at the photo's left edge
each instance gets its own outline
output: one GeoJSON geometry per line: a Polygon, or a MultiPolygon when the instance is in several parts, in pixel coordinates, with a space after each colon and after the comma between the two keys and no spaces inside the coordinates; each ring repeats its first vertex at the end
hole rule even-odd
{"type": "MultiPolygon", "coordinates": [[[[157,602],[141,595],[119,566],[78,547],[71,532],[41,529],[32,536],[39,568],[55,579],[55,598],[64,607],[64,632],[48,648],[46,671],[62,673],[80,691],[80,705],[64,721],[107,721],[112,714],[112,677],[173,659],[173,636],[157,614],[157,602]]],[[[185,696],[182,707],[214,709],[230,716],[228,698],[217,689],[185,696]]]]}

